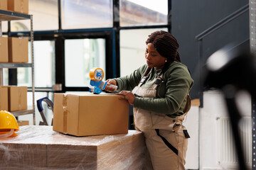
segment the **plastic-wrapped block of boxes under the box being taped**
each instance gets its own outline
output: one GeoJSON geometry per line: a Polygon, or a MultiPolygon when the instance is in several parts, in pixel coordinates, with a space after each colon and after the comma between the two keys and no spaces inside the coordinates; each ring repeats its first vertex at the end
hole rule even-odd
{"type": "Polygon", "coordinates": [[[75,137],[52,126],[21,126],[0,140],[0,169],[151,169],[144,135],[75,137]]]}

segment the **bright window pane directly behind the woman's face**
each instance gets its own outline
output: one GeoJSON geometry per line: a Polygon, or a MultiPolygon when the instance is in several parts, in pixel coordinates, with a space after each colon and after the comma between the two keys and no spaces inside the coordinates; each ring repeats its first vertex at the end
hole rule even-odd
{"type": "Polygon", "coordinates": [[[120,30],[120,76],[131,74],[145,62],[146,39],[150,33],[161,29],[120,30]],[[129,67],[127,67],[129,65],[129,67]]]}

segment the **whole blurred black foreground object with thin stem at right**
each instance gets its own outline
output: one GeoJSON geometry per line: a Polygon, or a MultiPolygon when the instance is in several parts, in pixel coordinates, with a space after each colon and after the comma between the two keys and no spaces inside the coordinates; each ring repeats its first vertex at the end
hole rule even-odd
{"type": "Polygon", "coordinates": [[[255,57],[240,47],[228,45],[213,53],[202,70],[203,86],[220,89],[224,94],[238,154],[239,169],[244,170],[246,166],[238,128],[241,116],[235,103],[235,94],[244,89],[252,97],[256,96],[255,57]]]}

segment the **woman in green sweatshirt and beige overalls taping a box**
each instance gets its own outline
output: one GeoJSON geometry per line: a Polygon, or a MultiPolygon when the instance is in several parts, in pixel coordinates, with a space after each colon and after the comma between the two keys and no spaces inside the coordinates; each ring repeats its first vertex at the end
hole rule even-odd
{"type": "Polygon", "coordinates": [[[107,80],[118,86],[120,99],[133,105],[135,128],[144,133],[154,169],[185,169],[189,135],[182,122],[190,108],[193,79],[177,50],[171,33],[151,33],[146,64],[127,77],[107,80]]]}

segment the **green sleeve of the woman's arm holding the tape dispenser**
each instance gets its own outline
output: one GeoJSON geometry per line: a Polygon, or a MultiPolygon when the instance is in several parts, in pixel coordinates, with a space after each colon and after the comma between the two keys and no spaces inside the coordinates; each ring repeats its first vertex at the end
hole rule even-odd
{"type": "Polygon", "coordinates": [[[139,67],[132,74],[127,75],[126,77],[115,78],[117,81],[117,92],[119,91],[132,91],[135,86],[139,84],[139,81],[142,79],[144,72],[146,71],[146,65],[139,67]]]}

